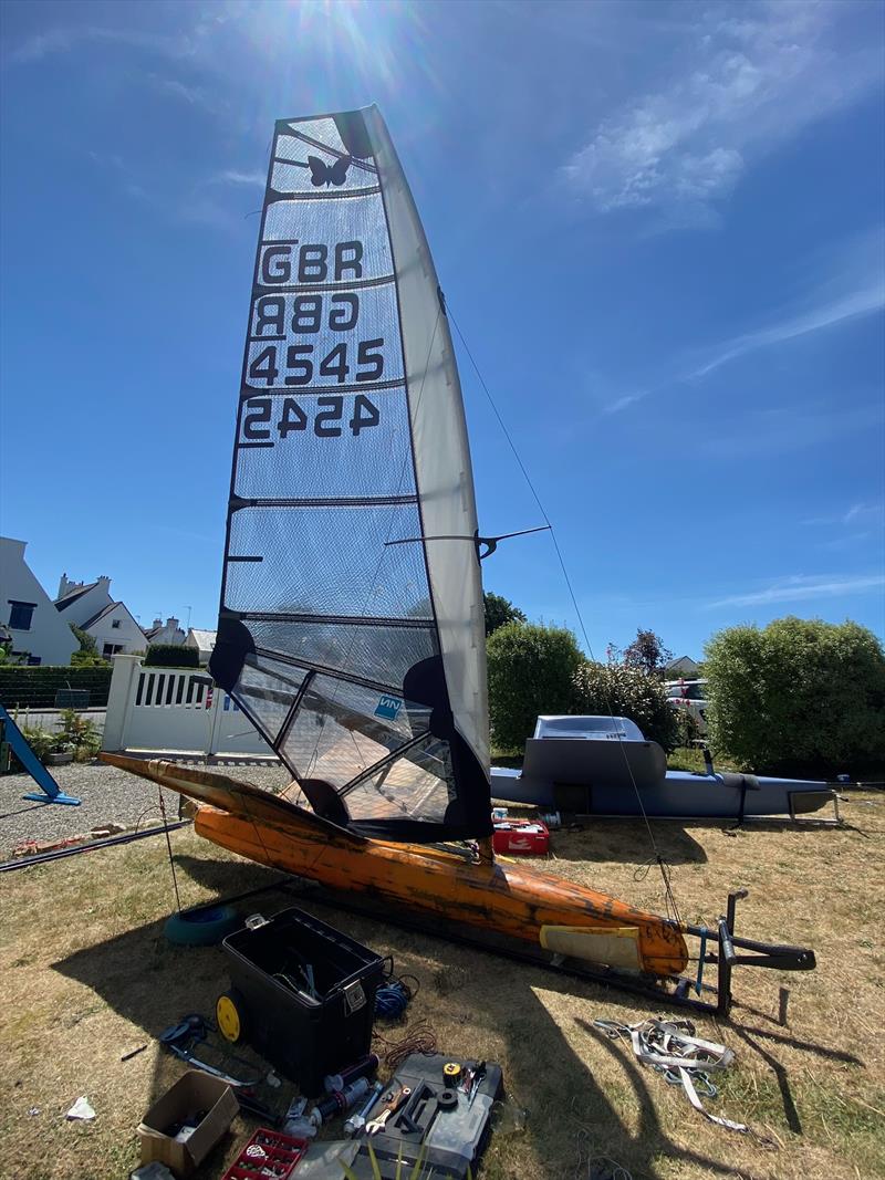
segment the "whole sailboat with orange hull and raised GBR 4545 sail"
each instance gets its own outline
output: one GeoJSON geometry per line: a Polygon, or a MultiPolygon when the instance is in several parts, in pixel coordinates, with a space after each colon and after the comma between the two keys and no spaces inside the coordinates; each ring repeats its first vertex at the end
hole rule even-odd
{"type": "Polygon", "coordinates": [[[733,902],[710,932],[496,861],[479,558],[498,539],[479,535],[445,299],[378,109],[278,122],[210,670],[293,781],[103,756],[196,800],[209,840],[431,930],[653,979],[684,971],[690,935],[719,938],[721,975],[814,966],[735,939],[733,902]]]}

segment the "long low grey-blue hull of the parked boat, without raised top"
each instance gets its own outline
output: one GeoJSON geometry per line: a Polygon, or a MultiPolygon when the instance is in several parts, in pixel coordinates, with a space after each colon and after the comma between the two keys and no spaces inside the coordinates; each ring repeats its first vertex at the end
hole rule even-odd
{"type": "Polygon", "coordinates": [[[658,819],[761,819],[796,817],[832,804],[825,782],[766,779],[741,774],[691,774],[668,771],[656,784],[563,782],[532,779],[519,771],[492,769],[492,798],[582,815],[658,819]],[[642,800],[642,809],[640,800],[642,800]]]}

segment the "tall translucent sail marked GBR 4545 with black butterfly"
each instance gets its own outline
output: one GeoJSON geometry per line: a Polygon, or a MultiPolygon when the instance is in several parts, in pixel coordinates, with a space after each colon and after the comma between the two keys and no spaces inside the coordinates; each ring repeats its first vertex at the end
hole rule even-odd
{"type": "Polygon", "coordinates": [[[476,533],[445,302],[385,123],[281,120],[210,669],[323,818],[490,834],[476,533]]]}

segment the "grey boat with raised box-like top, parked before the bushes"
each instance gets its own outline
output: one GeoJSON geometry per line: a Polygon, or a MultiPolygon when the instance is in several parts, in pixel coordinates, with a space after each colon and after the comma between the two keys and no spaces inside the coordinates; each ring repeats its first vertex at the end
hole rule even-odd
{"type": "Polygon", "coordinates": [[[650,741],[531,738],[522,771],[492,768],[492,796],[582,815],[760,819],[819,811],[835,792],[813,780],[668,771],[650,741]]]}

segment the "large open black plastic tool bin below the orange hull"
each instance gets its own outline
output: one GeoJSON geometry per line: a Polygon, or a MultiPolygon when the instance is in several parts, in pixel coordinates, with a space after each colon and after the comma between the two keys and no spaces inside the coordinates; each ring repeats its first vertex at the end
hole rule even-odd
{"type": "Polygon", "coordinates": [[[314,1097],[369,1051],[382,959],[295,907],[223,942],[243,1036],[314,1097]]]}

